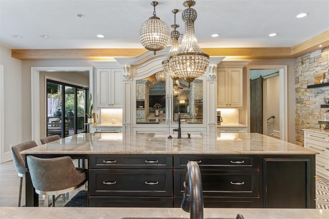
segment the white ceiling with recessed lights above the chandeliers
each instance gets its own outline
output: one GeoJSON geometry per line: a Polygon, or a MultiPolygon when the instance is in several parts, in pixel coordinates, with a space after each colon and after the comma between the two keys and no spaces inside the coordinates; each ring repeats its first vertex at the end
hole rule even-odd
{"type": "MultiPolygon", "coordinates": [[[[0,0],[0,43],[10,49],[142,48],[151,0],[0,0]],[[85,17],[80,18],[77,14],[85,17]],[[21,35],[22,39],[12,35],[21,35]],[[104,34],[99,39],[97,34],[104,34]],[[49,38],[41,38],[48,35],[49,38]]],[[[183,0],[158,0],[156,15],[184,32],[183,0]]],[[[328,0],[196,0],[200,47],[291,47],[329,29],[328,0]],[[302,19],[296,15],[309,13],[302,19]],[[279,33],[275,37],[268,34],[279,33]],[[211,34],[220,33],[218,38],[211,34]]]]}

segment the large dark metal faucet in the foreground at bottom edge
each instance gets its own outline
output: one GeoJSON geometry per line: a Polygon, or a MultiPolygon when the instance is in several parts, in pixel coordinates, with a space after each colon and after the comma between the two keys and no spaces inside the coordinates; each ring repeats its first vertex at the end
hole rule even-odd
{"type": "Polygon", "coordinates": [[[204,200],[199,166],[195,161],[189,161],[184,182],[184,196],[181,208],[190,212],[190,218],[204,218],[204,200]]]}

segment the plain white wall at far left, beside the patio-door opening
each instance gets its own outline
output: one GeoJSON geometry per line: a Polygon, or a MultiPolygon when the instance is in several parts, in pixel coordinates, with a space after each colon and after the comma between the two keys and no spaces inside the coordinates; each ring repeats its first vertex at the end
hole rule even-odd
{"type": "MultiPolygon", "coordinates": [[[[22,93],[30,92],[22,87],[22,61],[11,58],[11,50],[0,46],[0,64],[4,66],[4,144],[0,161],[5,162],[11,159],[10,148],[22,142],[23,133],[23,111],[26,107],[22,101],[22,93]]],[[[30,128],[29,128],[30,129],[30,128]]]]}

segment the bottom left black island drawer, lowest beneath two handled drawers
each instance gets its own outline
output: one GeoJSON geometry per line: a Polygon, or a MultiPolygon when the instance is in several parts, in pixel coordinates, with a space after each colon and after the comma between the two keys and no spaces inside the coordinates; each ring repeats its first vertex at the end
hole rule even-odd
{"type": "Polygon", "coordinates": [[[89,197],[89,207],[172,208],[173,197],[89,197]]]}

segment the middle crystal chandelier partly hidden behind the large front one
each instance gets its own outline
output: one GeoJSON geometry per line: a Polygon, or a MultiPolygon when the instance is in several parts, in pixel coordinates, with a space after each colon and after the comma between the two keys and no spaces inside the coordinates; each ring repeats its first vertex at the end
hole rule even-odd
{"type": "Polygon", "coordinates": [[[171,48],[169,50],[168,57],[162,61],[162,67],[163,70],[166,72],[166,74],[171,77],[173,80],[177,80],[178,77],[176,76],[175,72],[171,69],[169,65],[169,58],[173,56],[178,51],[178,38],[180,36],[180,33],[176,30],[176,28],[179,27],[178,24],[176,24],[176,13],[178,12],[178,9],[173,9],[172,12],[174,15],[174,24],[171,25],[174,30],[170,33],[171,36],[171,48]]]}

